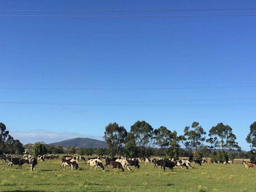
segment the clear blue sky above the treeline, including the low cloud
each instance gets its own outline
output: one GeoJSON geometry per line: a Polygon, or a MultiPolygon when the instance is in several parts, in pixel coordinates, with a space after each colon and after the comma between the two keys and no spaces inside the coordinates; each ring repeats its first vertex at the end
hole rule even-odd
{"type": "MultiPolygon", "coordinates": [[[[255,1],[0,1],[1,10],[248,9],[255,1]]],[[[242,15],[256,10],[0,15],[242,15]]],[[[256,16],[0,16],[0,122],[21,143],[103,140],[145,120],[183,134],[256,121],[256,16]],[[16,89],[19,88],[19,89],[16,89]]]]}

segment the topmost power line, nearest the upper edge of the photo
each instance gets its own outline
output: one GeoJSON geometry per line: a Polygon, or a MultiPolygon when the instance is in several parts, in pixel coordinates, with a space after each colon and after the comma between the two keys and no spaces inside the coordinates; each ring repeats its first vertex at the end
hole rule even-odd
{"type": "Polygon", "coordinates": [[[165,9],[165,10],[0,10],[0,11],[32,11],[32,12],[166,12],[166,11],[238,11],[256,10],[256,8],[236,8],[236,9],[165,9]]]}

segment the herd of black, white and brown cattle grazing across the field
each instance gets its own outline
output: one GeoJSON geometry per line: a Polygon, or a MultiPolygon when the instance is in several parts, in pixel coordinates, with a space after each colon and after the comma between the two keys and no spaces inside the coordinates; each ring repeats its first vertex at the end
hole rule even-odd
{"type": "MultiPolygon", "coordinates": [[[[55,156],[55,155],[39,155],[37,158],[32,157],[31,155],[24,155],[23,156],[25,159],[23,158],[14,158],[11,157],[11,155],[7,154],[5,155],[0,155],[0,159],[2,164],[5,164],[5,161],[8,160],[8,168],[9,166],[13,166],[13,165],[18,165],[18,168],[21,168],[21,166],[24,163],[28,163],[30,164],[31,167],[31,171],[35,170],[35,166],[37,165],[38,161],[45,161],[45,159],[59,159],[59,156],[55,156]]],[[[105,168],[108,167],[108,165],[110,166],[110,171],[114,168],[124,171],[125,167],[127,168],[127,170],[131,170],[130,166],[134,166],[134,168],[136,169],[140,169],[140,165],[139,162],[145,161],[145,164],[147,163],[151,163],[151,165],[154,165],[154,168],[157,168],[157,166],[161,166],[161,169],[163,168],[163,170],[165,171],[165,168],[170,168],[170,171],[173,171],[172,168],[176,168],[176,167],[185,167],[186,169],[191,168],[191,164],[189,160],[178,160],[178,159],[162,159],[159,158],[159,160],[156,160],[156,158],[116,158],[116,157],[94,157],[94,158],[88,158],[87,161],[87,165],[90,166],[90,170],[92,170],[92,167],[95,167],[94,170],[96,170],[98,168],[101,168],[102,171],[105,171],[105,168]],[[105,166],[103,166],[102,162],[105,162],[105,166]]],[[[61,163],[60,163],[60,168],[66,168],[68,169],[71,168],[71,170],[73,169],[78,169],[78,161],[85,161],[86,159],[85,157],[82,156],[77,156],[77,157],[73,157],[71,155],[67,155],[67,156],[63,156],[61,163]]],[[[223,163],[223,164],[234,164],[233,161],[212,161],[212,160],[198,160],[195,159],[193,161],[193,164],[197,163],[199,166],[201,166],[201,163],[223,163]]],[[[243,164],[245,165],[245,168],[253,168],[256,167],[256,162],[245,162],[243,161],[243,164]]],[[[18,169],[16,168],[16,169],[18,169]]]]}

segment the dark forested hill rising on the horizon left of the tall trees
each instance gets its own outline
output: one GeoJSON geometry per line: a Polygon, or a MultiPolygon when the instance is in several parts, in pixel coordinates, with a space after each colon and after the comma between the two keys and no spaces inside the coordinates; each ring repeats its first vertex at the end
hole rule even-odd
{"type": "Polygon", "coordinates": [[[79,148],[108,148],[108,145],[104,141],[90,139],[90,138],[75,138],[75,139],[68,139],[57,143],[50,143],[48,145],[55,145],[55,146],[63,146],[63,147],[72,147],[76,146],[79,148]]]}

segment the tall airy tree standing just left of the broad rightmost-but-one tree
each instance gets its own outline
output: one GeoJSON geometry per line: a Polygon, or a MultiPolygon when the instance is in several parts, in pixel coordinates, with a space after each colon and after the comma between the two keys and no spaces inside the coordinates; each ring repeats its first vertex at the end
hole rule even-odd
{"type": "Polygon", "coordinates": [[[204,147],[203,142],[205,141],[206,132],[203,130],[201,126],[199,126],[198,122],[193,122],[191,127],[193,130],[190,130],[190,127],[185,127],[184,129],[184,140],[182,142],[185,147],[187,147],[190,151],[198,151],[204,147]]]}

